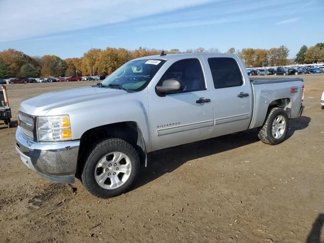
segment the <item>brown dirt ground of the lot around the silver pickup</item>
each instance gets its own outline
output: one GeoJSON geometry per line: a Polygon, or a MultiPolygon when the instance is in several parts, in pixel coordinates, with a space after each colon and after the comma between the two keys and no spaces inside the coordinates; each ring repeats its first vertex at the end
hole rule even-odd
{"type": "MultiPolygon", "coordinates": [[[[0,121],[0,242],[323,242],[324,74],[299,77],[306,108],[283,143],[252,130],[153,152],[111,199],[30,171],[0,121]]],[[[13,117],[25,98],[90,84],[7,85],[13,117]]]]}

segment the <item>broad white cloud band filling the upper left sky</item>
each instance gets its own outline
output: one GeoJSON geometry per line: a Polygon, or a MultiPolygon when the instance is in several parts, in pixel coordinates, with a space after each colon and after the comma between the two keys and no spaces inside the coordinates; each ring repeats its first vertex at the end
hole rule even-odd
{"type": "Polygon", "coordinates": [[[209,2],[212,0],[2,0],[0,43],[115,24],[209,2]]]}

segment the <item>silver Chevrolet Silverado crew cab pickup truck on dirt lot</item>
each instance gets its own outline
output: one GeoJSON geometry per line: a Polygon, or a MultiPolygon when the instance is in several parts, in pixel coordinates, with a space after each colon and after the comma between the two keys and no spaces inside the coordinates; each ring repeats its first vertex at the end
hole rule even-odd
{"type": "Polygon", "coordinates": [[[233,54],[180,54],[127,62],[96,86],[24,100],[16,149],[54,182],[75,178],[95,196],[125,192],[146,154],[259,128],[285,139],[304,106],[301,78],[250,80],[233,54]]]}

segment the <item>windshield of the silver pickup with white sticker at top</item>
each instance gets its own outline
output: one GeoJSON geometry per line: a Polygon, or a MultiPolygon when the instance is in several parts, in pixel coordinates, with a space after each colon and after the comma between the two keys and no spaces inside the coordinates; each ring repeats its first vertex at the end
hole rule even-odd
{"type": "Polygon", "coordinates": [[[159,59],[141,59],[125,63],[102,82],[102,87],[120,87],[123,90],[144,89],[158,69],[166,62],[159,59]]]}

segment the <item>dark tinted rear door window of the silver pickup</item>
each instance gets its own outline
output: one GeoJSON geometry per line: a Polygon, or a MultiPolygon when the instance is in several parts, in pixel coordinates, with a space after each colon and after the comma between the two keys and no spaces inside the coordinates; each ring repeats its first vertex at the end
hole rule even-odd
{"type": "Polygon", "coordinates": [[[218,57],[208,58],[215,89],[241,86],[242,75],[233,58],[218,57]]]}

